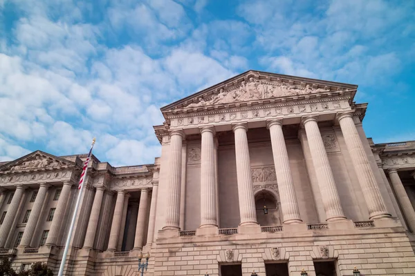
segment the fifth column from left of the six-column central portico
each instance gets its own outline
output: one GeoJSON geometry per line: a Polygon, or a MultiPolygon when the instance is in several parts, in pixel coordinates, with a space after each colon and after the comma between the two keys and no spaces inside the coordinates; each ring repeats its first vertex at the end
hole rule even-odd
{"type": "Polygon", "coordinates": [[[317,125],[316,117],[304,117],[302,124],[306,130],[308,146],[310,147],[311,158],[315,169],[324,210],[326,211],[326,221],[346,219],[337,188],[331,172],[329,157],[324,148],[322,135],[317,125]]]}

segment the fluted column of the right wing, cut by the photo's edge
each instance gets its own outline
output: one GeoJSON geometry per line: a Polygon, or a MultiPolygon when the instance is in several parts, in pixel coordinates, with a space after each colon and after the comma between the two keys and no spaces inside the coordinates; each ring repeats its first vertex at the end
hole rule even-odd
{"type": "Polygon", "coordinates": [[[403,215],[406,218],[409,230],[415,233],[415,210],[409,200],[406,190],[400,181],[398,172],[394,169],[388,170],[389,178],[391,179],[392,186],[394,186],[396,197],[398,198],[400,208],[403,210],[403,215]]]}

